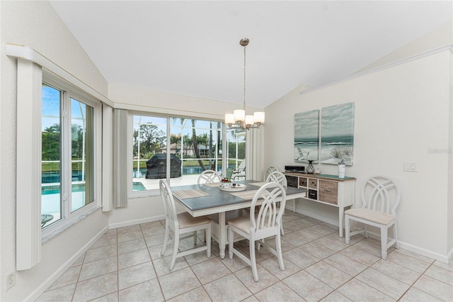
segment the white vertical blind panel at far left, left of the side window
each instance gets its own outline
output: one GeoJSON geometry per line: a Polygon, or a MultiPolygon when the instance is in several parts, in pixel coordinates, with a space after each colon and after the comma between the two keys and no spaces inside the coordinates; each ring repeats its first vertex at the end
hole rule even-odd
{"type": "Polygon", "coordinates": [[[41,111],[42,67],[22,59],[17,67],[16,269],[21,271],[41,261],[42,134],[36,112],[41,111]]]}

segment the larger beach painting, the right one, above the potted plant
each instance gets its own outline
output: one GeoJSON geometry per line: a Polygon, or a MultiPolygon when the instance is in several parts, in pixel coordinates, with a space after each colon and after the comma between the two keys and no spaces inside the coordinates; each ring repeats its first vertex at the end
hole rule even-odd
{"type": "Polygon", "coordinates": [[[354,103],[322,108],[321,163],[352,165],[354,155],[354,103]]]}

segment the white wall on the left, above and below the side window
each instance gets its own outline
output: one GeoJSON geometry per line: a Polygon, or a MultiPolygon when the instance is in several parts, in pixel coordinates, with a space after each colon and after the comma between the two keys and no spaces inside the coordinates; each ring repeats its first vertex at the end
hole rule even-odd
{"type": "Polygon", "coordinates": [[[16,272],[16,285],[6,291],[6,274],[16,268],[17,63],[6,56],[5,45],[32,47],[101,94],[106,95],[108,87],[47,1],[0,1],[0,22],[0,301],[24,301],[49,286],[58,269],[74,262],[108,228],[108,216],[96,211],[45,242],[42,261],[33,269],[16,272]]]}

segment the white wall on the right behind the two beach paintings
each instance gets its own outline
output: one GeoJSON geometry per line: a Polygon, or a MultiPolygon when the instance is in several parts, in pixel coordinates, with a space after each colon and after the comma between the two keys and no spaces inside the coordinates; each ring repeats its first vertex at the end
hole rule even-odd
{"type": "MultiPolygon", "coordinates": [[[[402,246],[446,261],[453,249],[452,67],[450,49],[304,94],[294,89],[265,110],[264,166],[294,164],[294,113],[354,102],[354,165],[346,176],[357,178],[356,204],[366,177],[394,178],[402,190],[402,246]],[[416,162],[418,172],[403,172],[406,161],[416,162]]],[[[334,165],[319,167],[337,173],[334,165]]],[[[336,220],[329,206],[310,201],[298,203],[298,211],[336,220]]]]}

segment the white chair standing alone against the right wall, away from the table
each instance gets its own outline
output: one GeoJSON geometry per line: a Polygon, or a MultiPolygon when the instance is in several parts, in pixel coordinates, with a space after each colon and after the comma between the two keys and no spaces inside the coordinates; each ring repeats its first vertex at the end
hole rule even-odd
{"type": "Polygon", "coordinates": [[[369,177],[362,187],[362,208],[351,208],[345,211],[345,242],[349,244],[350,236],[365,233],[368,237],[367,225],[381,230],[381,255],[387,258],[387,250],[392,245],[399,248],[396,229],[396,208],[401,199],[401,192],[396,183],[384,176],[369,177]],[[364,224],[361,230],[350,232],[350,222],[364,224]],[[393,225],[393,238],[388,241],[388,230],[393,225]]]}

